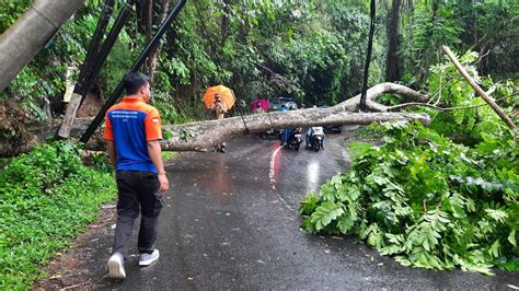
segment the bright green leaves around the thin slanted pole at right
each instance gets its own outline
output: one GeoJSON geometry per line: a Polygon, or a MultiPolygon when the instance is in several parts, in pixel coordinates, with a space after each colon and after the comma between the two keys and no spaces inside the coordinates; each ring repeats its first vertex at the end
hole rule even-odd
{"type": "MultiPolygon", "coordinates": [[[[505,113],[514,116],[514,109],[519,104],[517,90],[519,86],[512,80],[495,83],[489,75],[480,75],[476,53],[466,53],[460,57],[460,62],[483,88],[492,89],[492,97],[504,108],[505,113]]],[[[461,108],[438,112],[422,108],[434,118],[431,128],[443,136],[465,139],[464,143],[476,143],[485,136],[496,130],[506,130],[506,125],[498,120],[495,112],[486,105],[483,98],[475,95],[472,86],[461,77],[450,61],[443,61],[430,68],[428,79],[430,103],[443,108],[461,108]]]]}

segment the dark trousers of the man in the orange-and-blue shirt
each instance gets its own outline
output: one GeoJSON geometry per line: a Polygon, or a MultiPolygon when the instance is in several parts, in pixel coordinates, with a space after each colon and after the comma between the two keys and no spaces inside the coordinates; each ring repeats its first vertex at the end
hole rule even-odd
{"type": "Polygon", "coordinates": [[[112,253],[128,255],[129,240],[134,222],[141,214],[139,240],[140,253],[153,251],[157,236],[157,223],[163,206],[162,195],[159,194],[159,178],[150,172],[120,171],[116,175],[118,188],[117,223],[115,226],[112,253]],[[140,211],[139,211],[140,210],[140,211]]]}

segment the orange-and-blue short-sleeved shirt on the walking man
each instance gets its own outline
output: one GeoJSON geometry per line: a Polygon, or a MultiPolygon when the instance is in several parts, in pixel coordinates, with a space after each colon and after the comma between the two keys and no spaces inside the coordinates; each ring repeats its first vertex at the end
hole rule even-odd
{"type": "Polygon", "coordinates": [[[112,106],[105,116],[103,139],[112,140],[116,150],[116,171],[158,173],[147,141],[162,139],[161,119],[155,107],[139,97],[127,96],[112,106]]]}

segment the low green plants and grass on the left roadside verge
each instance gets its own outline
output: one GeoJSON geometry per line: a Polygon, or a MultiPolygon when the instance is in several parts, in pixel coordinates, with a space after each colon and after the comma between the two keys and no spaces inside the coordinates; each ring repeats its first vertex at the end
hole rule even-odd
{"type": "Polygon", "coordinates": [[[0,175],[0,289],[25,289],[116,193],[102,158],[86,167],[79,148],[48,144],[9,162],[0,175]],[[104,167],[104,171],[99,168],[104,167]]]}

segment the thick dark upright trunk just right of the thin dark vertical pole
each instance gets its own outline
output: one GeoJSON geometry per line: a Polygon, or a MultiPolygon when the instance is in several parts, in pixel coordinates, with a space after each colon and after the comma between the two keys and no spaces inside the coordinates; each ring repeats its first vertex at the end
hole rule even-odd
{"type": "Polygon", "coordinates": [[[393,5],[388,14],[385,37],[388,39],[388,55],[385,57],[385,81],[394,82],[402,80],[402,68],[399,54],[400,47],[400,8],[402,0],[393,0],[393,5]]]}

